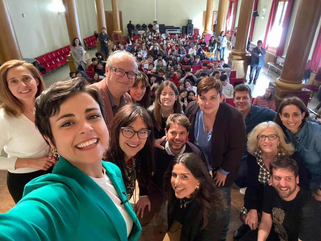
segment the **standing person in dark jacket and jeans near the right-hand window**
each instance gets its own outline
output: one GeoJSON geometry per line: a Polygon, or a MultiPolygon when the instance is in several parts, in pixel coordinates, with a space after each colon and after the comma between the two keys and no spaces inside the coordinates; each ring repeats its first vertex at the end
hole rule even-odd
{"type": "Polygon", "coordinates": [[[264,67],[264,56],[266,54],[266,50],[262,48],[262,40],[257,41],[257,47],[255,47],[251,52],[251,58],[249,59],[251,68],[250,68],[250,81],[248,84],[252,84],[253,74],[255,70],[255,76],[253,80],[253,85],[256,84],[256,80],[259,77],[260,70],[264,67]]]}

